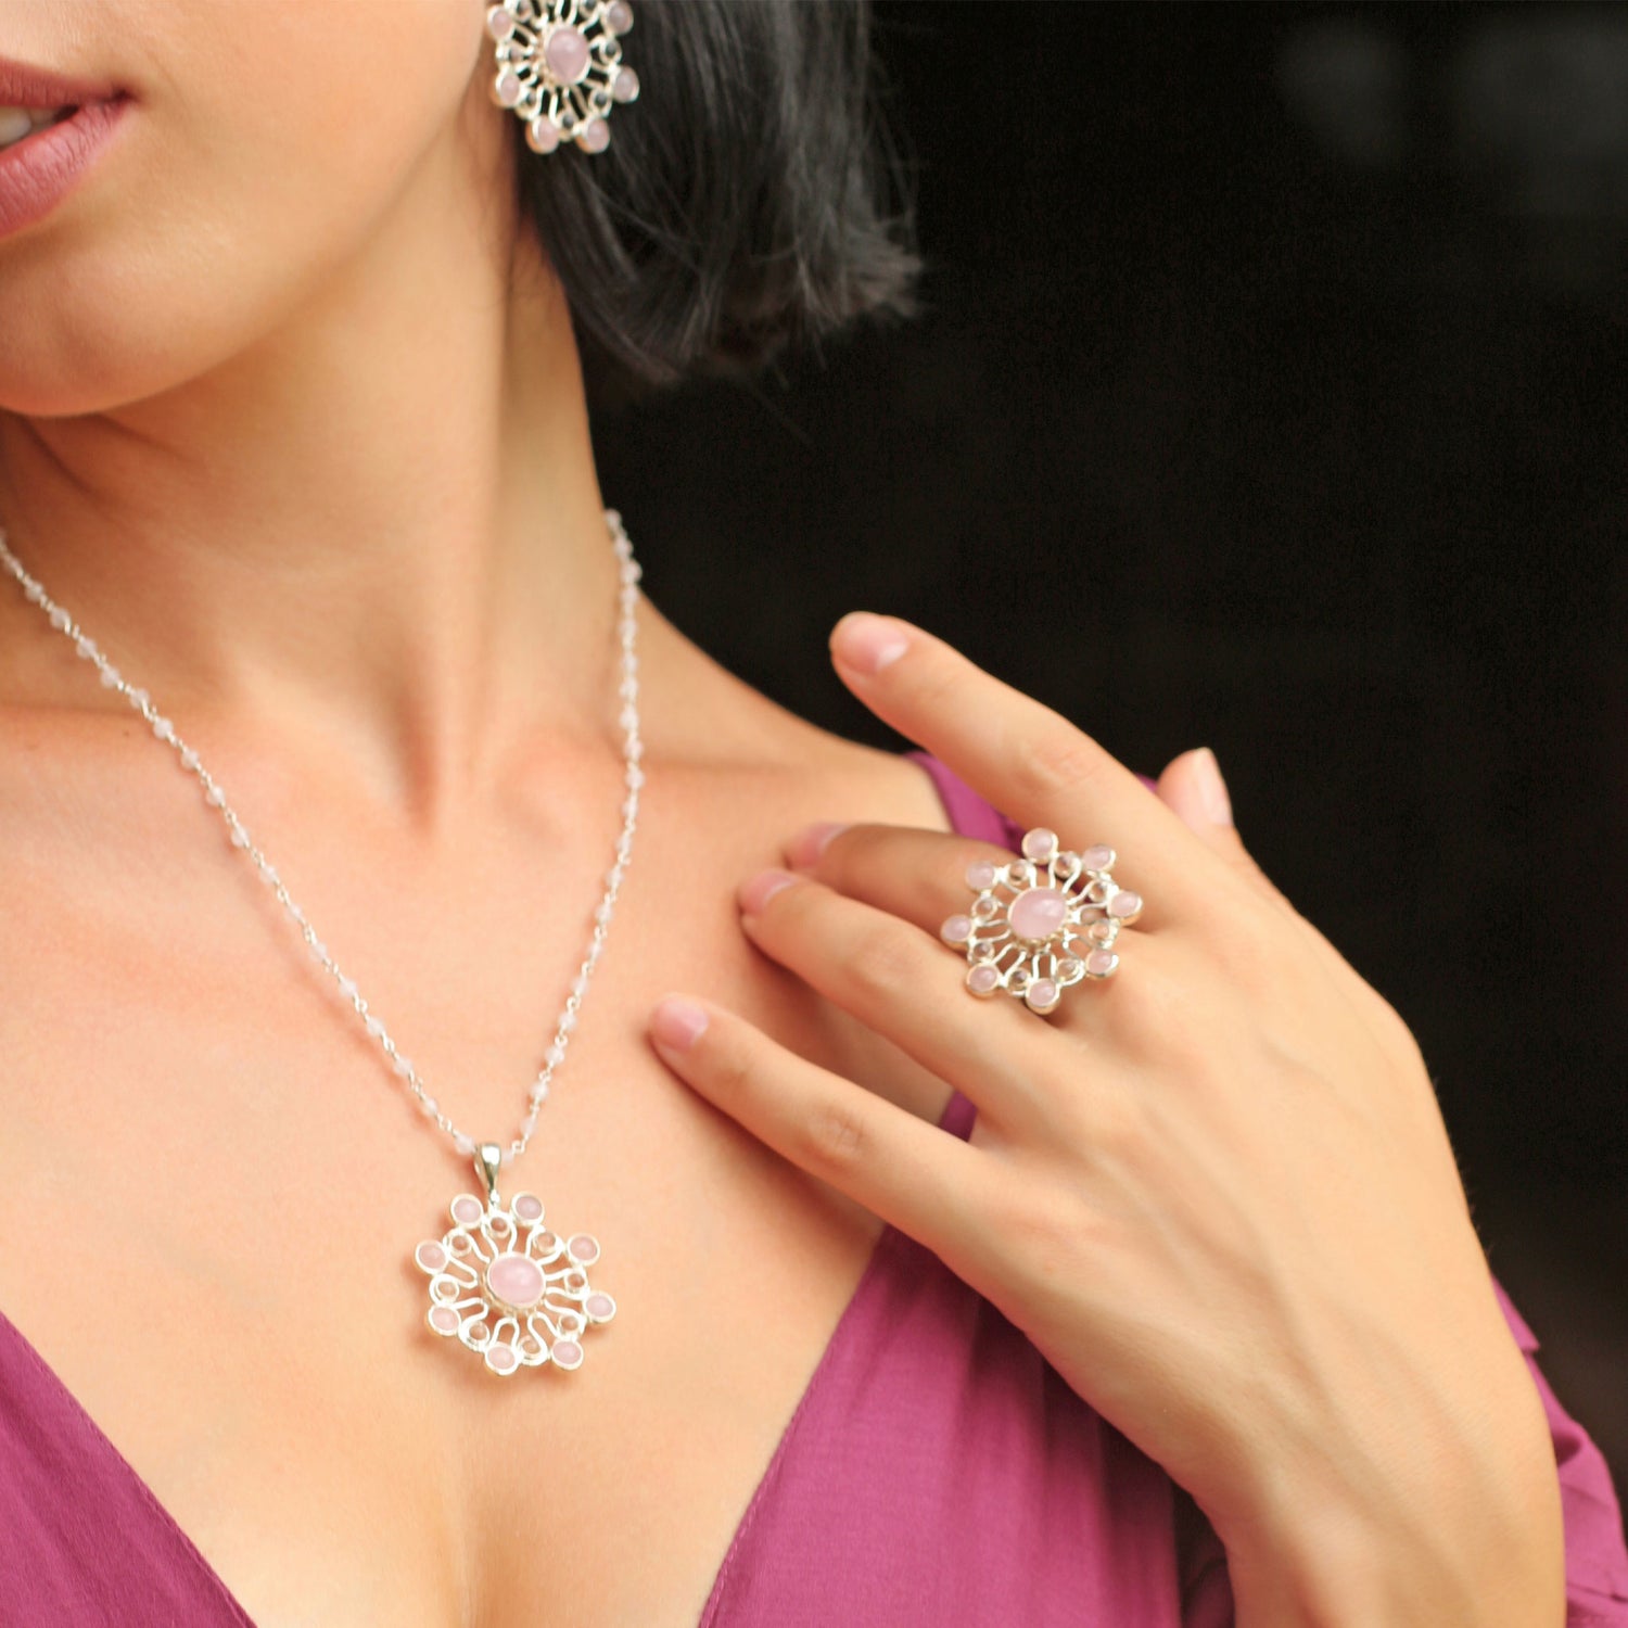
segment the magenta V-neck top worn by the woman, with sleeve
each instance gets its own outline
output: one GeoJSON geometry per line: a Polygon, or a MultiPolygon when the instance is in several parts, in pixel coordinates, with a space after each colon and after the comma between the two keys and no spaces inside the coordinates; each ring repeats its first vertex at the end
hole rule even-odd
{"type": "MultiPolygon", "coordinates": [[[[917,754],[920,757],[920,754],[917,754]]],[[[954,827],[1017,830],[921,759],[954,827]]],[[[959,1092],[944,1130],[965,1136],[959,1092]]],[[[1600,1451],[1537,1368],[1565,1503],[1569,1628],[1628,1628],[1600,1451]]],[[[52,1628],[254,1628],[199,1550],[0,1315],[0,1610],[52,1628]]],[[[1226,1555],[1188,1495],[934,1255],[886,1228],[729,1545],[700,1628],[1229,1628],[1226,1555]]]]}

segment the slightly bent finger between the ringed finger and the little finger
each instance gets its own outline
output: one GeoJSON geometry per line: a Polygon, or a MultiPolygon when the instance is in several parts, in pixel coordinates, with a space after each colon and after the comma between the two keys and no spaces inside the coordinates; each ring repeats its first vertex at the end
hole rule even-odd
{"type": "Polygon", "coordinates": [[[965,964],[897,917],[804,877],[767,871],[741,889],[741,926],[788,972],[972,1097],[1001,1125],[1052,1115],[1047,1026],[1011,996],[967,993],[965,964]]]}

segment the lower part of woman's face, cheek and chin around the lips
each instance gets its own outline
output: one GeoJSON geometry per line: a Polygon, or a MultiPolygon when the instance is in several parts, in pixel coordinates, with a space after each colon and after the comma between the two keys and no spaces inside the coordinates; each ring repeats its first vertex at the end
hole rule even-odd
{"type": "Polygon", "coordinates": [[[0,59],[130,96],[77,187],[0,233],[0,409],[81,414],[181,384],[363,256],[410,259],[425,234],[466,230],[474,190],[508,197],[484,15],[484,0],[0,5],[0,59]]]}

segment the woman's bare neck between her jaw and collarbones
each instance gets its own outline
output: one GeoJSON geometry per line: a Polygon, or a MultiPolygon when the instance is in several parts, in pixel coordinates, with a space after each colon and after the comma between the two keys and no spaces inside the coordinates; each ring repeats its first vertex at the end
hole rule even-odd
{"type": "MultiPolygon", "coordinates": [[[[8,540],[133,682],[176,715],[332,734],[420,807],[542,720],[614,751],[570,319],[480,197],[409,192],[274,332],[158,397],[0,414],[8,540]]],[[[49,635],[0,594],[0,685],[109,705],[49,635]]]]}

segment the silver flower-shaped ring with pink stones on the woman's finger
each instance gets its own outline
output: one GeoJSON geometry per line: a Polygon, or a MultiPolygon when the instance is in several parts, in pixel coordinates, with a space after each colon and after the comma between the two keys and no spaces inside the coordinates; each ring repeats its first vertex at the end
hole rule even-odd
{"type": "Polygon", "coordinates": [[[1141,915],[1141,894],[1110,874],[1115,858],[1107,843],[1060,848],[1057,832],[1037,825],[1008,864],[974,860],[967,886],[977,897],[939,928],[967,954],[967,988],[978,996],[1004,990],[1045,1016],[1071,983],[1114,977],[1120,928],[1141,915]]]}

